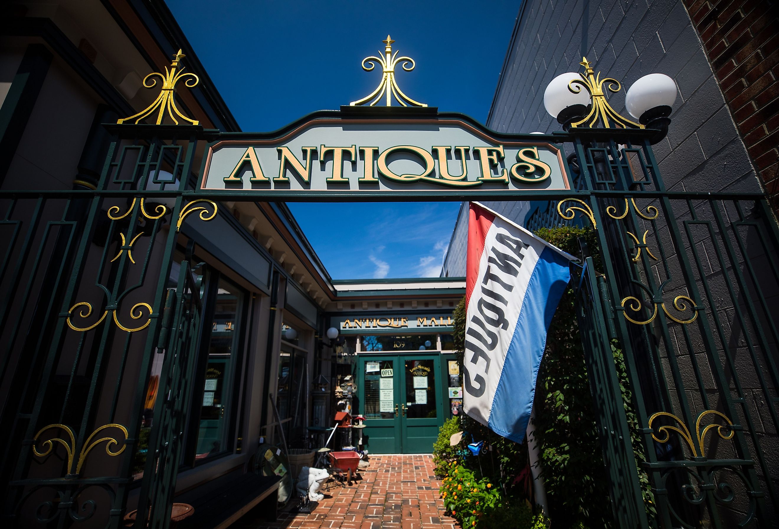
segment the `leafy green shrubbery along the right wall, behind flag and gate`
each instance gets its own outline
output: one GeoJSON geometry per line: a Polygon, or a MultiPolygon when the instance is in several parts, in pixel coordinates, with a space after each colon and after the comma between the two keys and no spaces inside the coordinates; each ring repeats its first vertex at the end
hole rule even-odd
{"type": "MultiPolygon", "coordinates": [[[[579,240],[584,240],[593,255],[595,267],[600,267],[597,237],[592,229],[561,226],[538,229],[536,234],[574,255],[580,253],[579,240]]],[[[587,363],[576,322],[574,303],[575,296],[571,288],[562,296],[548,331],[547,349],[538,373],[534,403],[536,410],[534,439],[541,449],[542,476],[545,480],[549,513],[554,517],[555,527],[571,529],[611,527],[608,478],[597,436],[587,363]]],[[[456,307],[453,320],[456,358],[462,370],[465,347],[465,300],[461,300],[456,307]]],[[[622,387],[622,398],[631,429],[636,464],[639,464],[640,461],[644,461],[643,444],[638,433],[636,414],[631,407],[632,395],[622,351],[619,350],[617,342],[612,345],[612,352],[622,387]]],[[[517,523],[516,520],[520,520],[519,513],[511,513],[513,509],[527,508],[524,489],[520,485],[512,486],[517,482],[516,476],[527,467],[527,443],[520,445],[497,436],[467,415],[460,417],[460,428],[467,432],[463,445],[471,442],[473,436],[474,440],[485,440],[485,443],[492,445],[494,450],[489,457],[480,456],[479,460],[471,455],[463,459],[464,467],[471,472],[474,481],[477,478],[486,480],[493,485],[499,485],[502,489],[502,495],[499,494],[499,497],[504,498],[500,500],[504,507],[494,510],[495,513],[490,515],[492,524],[489,524],[489,527],[530,527],[530,524],[524,521],[522,524],[517,523]],[[493,464],[487,464],[488,461],[492,463],[492,454],[497,455],[498,468],[493,464]]],[[[446,439],[448,441],[448,437],[446,439]]],[[[649,480],[643,470],[639,469],[639,473],[647,513],[652,516],[654,498],[649,480]]],[[[446,484],[451,485],[453,478],[455,476],[452,476],[446,484]]],[[[443,492],[447,492],[447,496],[452,496],[442,487],[443,492]]],[[[452,499],[449,499],[449,503],[452,499]]],[[[456,511],[456,507],[453,510],[456,511]]],[[[465,510],[463,512],[467,513],[465,510]]],[[[456,514],[454,516],[463,523],[464,527],[471,525],[475,527],[478,525],[478,520],[483,523],[487,520],[486,513],[482,513],[481,518],[470,521],[461,520],[456,514]],[[472,524],[474,521],[477,521],[477,524],[472,524]]]]}

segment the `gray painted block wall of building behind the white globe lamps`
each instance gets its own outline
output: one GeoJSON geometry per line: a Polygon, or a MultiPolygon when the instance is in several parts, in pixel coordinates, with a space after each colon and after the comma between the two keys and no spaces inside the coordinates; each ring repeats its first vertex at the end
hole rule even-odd
{"type": "MultiPolygon", "coordinates": [[[[643,75],[664,73],[679,89],[668,136],[654,145],[669,191],[761,191],[760,179],[726,104],[707,50],[678,0],[523,2],[495,89],[487,126],[505,132],[552,132],[561,125],[544,107],[555,76],[579,72],[582,57],[601,77],[622,83],[607,93],[620,114],[626,90],[643,75]]],[[[566,145],[566,152],[571,152],[566,145]]],[[[523,224],[532,203],[488,202],[523,224]]],[[[541,205],[543,207],[543,205],[541,205]]],[[[442,276],[465,275],[467,207],[460,210],[442,276]]]]}

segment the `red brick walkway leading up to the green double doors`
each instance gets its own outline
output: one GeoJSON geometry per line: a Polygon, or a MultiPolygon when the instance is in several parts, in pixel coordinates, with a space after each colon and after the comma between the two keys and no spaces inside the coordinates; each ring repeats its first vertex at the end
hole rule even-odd
{"type": "Polygon", "coordinates": [[[432,456],[371,456],[370,461],[371,466],[360,473],[361,480],[324,492],[325,499],[307,516],[290,513],[291,501],[273,523],[248,513],[233,527],[454,529],[456,521],[444,515],[441,482],[433,474],[432,456]]]}

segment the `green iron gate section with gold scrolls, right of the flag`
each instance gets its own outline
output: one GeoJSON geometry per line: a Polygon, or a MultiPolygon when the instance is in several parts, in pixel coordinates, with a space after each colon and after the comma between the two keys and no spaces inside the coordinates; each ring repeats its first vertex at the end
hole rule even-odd
{"type": "Polygon", "coordinates": [[[629,131],[572,133],[579,193],[528,227],[596,229],[603,264],[585,259],[577,311],[616,525],[769,527],[779,504],[770,206],[759,194],[667,191],[649,142],[629,131]],[[633,429],[612,344],[624,352],[633,429]]]}

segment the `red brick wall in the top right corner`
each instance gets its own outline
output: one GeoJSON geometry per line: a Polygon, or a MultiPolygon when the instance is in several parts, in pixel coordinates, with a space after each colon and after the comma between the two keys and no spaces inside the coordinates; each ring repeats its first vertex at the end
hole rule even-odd
{"type": "Polygon", "coordinates": [[[684,0],[714,76],[779,212],[779,4],[684,0]]]}

